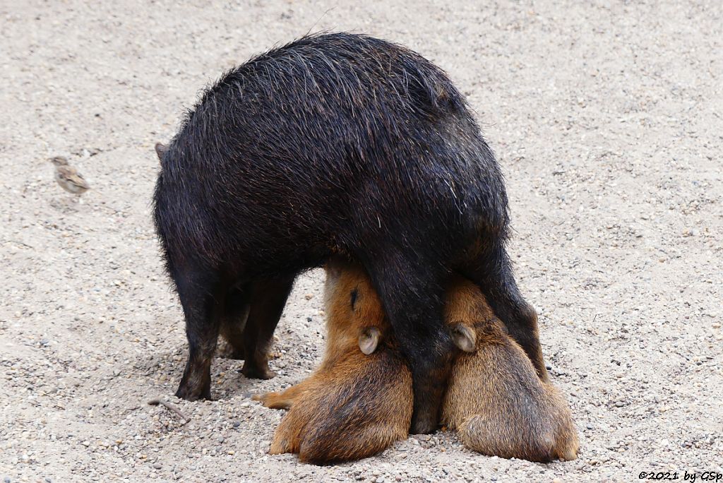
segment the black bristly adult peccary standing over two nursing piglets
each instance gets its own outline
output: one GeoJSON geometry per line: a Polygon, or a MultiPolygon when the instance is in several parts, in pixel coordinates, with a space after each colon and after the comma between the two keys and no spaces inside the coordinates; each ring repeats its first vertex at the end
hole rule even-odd
{"type": "Polygon", "coordinates": [[[155,224],[189,341],[177,396],[210,398],[220,331],[245,374],[273,376],[266,351],[294,277],[332,254],[361,262],[380,295],[414,380],[413,432],[435,429],[449,375],[451,270],[547,380],[505,252],[500,168],[422,56],[366,35],[301,38],[224,74],[157,151],[155,224]]]}

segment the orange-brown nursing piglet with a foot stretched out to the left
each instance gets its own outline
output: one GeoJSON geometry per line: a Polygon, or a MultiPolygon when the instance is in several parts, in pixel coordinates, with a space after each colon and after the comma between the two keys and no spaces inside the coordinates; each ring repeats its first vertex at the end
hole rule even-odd
{"type": "Polygon", "coordinates": [[[327,265],[327,346],[313,375],[283,393],[254,396],[289,409],[270,453],[299,453],[307,463],[367,458],[406,439],[411,424],[411,372],[389,330],[369,278],[356,265],[327,265]]]}

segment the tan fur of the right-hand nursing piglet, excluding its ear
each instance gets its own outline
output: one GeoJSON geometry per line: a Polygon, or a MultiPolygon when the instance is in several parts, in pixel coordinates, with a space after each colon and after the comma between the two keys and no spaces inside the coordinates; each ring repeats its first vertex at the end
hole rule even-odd
{"type": "Polygon", "coordinates": [[[446,320],[474,329],[475,351],[452,369],[442,423],[479,453],[530,461],[573,460],[578,436],[560,392],[542,382],[523,349],[505,332],[473,283],[448,287],[446,320]]]}

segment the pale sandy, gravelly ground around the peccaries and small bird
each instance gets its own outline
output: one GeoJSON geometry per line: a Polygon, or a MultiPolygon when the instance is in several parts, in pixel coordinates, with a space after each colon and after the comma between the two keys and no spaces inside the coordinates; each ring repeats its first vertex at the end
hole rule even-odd
{"type": "Polygon", "coordinates": [[[719,1],[177,3],[0,1],[0,481],[723,472],[719,1]],[[510,251],[578,460],[487,458],[449,432],[338,466],[268,456],[282,412],[247,393],[319,362],[319,271],[277,330],[278,377],[216,359],[217,401],[172,396],[187,349],[150,218],[153,143],[223,69],[323,29],[414,48],[469,96],[507,176],[510,251]],[[55,184],[53,155],[92,185],[82,203],[55,184]],[[147,406],[159,396],[190,422],[147,406]]]}

